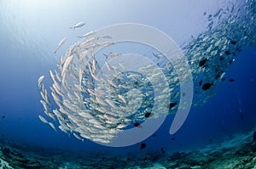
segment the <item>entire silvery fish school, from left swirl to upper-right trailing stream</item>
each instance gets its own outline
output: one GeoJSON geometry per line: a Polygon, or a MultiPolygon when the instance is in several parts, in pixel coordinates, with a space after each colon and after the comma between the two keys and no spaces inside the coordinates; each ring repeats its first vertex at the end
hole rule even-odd
{"type": "MultiPolygon", "coordinates": [[[[217,14],[208,17],[208,31],[183,48],[194,81],[194,106],[205,104],[216,93],[218,83],[224,80],[225,71],[235,61],[241,48],[255,44],[255,6],[255,1],[247,1],[244,8],[246,14],[237,16],[232,15],[234,12],[230,8],[219,10],[217,14]],[[229,17],[214,27],[211,18],[219,19],[221,14],[228,12],[229,17]]],[[[162,95],[154,95],[158,92],[154,91],[151,82],[157,82],[160,75],[154,65],[139,69],[139,72],[147,72],[147,77],[126,70],[121,64],[118,67],[109,65],[109,58],[122,57],[119,53],[103,54],[96,59],[97,48],[113,46],[114,43],[108,42],[111,38],[109,35],[94,35],[95,32],[91,31],[80,36],[82,40],[61,57],[58,69],[49,70],[53,82],[49,87],[50,93],[44,87],[44,76],[38,79],[38,89],[45,115],[57,120],[62,132],[72,133],[75,138],[83,141],[87,138],[108,144],[132,124],[141,127],[136,121],[162,115],[161,110],[152,110],[154,97],[160,99],[162,95]],[[102,67],[106,67],[108,74],[102,73],[102,67]],[[137,105],[140,107],[137,108],[137,105]]],[[[175,113],[179,98],[186,94],[179,93],[179,82],[182,81],[176,71],[178,69],[183,72],[180,78],[186,78],[190,72],[183,70],[182,66],[177,66],[175,70],[172,64],[177,63],[170,63],[162,54],[152,53],[152,56],[158,60],[157,65],[169,82],[169,87],[160,88],[161,92],[171,93],[170,104],[159,107],[167,106],[169,113],[175,113]]],[[[176,61],[179,62],[179,59],[176,61]]],[[[42,115],[39,118],[56,130],[54,123],[42,115]]]]}

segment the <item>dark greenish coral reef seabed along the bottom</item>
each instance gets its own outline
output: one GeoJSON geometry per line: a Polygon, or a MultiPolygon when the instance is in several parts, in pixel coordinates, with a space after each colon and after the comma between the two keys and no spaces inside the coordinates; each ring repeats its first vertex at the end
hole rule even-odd
{"type": "MultiPolygon", "coordinates": [[[[0,144],[0,169],[9,168],[256,168],[253,132],[194,151],[146,152],[129,155],[80,155],[56,149],[0,144]]],[[[144,149],[143,149],[144,150],[144,149]]]]}

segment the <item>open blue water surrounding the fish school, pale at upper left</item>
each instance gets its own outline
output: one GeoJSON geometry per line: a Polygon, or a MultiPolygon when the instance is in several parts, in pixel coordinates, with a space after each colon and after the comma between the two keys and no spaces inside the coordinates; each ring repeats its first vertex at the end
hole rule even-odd
{"type": "MultiPolygon", "coordinates": [[[[165,31],[182,46],[191,35],[196,37],[206,28],[205,11],[211,13],[224,5],[214,1],[192,4],[185,0],[180,3],[0,2],[0,9],[3,9],[0,12],[3,20],[3,25],[0,25],[0,115],[6,116],[0,119],[0,137],[14,143],[84,152],[141,149],[140,144],[113,149],[89,140],[83,143],[60,130],[55,132],[39,121],[38,115],[43,115],[44,110],[39,102],[38,77],[48,75],[49,69],[55,69],[58,58],[52,51],[60,39],[65,36],[70,39],[64,46],[65,51],[77,40],[76,35],[109,24],[137,22],[165,31]],[[184,5],[186,3],[190,5],[184,5]],[[81,20],[88,22],[84,29],[68,30],[70,25],[81,20]]],[[[183,127],[172,136],[168,131],[173,115],[169,115],[156,136],[144,141],[147,149],[195,149],[211,144],[209,139],[218,143],[234,137],[238,132],[252,130],[256,122],[255,57],[255,46],[244,48],[226,72],[226,79],[236,81],[222,82],[216,96],[201,108],[192,108],[183,127]]],[[[49,84],[49,76],[44,82],[49,84]]]]}

